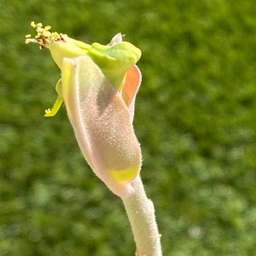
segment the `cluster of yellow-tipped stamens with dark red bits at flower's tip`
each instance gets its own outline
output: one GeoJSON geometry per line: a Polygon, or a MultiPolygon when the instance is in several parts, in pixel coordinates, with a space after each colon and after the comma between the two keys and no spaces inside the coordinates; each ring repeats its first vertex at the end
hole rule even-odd
{"type": "Polygon", "coordinates": [[[51,30],[51,26],[42,28],[42,23],[35,24],[34,22],[31,22],[30,25],[33,28],[36,28],[37,35],[35,38],[31,38],[31,34],[27,34],[25,41],[26,44],[29,44],[30,42],[37,42],[40,44],[39,48],[42,50],[47,42],[65,42],[62,34],[49,31],[51,30]]]}

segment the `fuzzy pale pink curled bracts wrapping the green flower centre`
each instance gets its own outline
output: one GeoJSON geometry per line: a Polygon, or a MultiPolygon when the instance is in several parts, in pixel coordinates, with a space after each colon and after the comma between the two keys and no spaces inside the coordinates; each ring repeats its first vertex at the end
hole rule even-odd
{"type": "MultiPolygon", "coordinates": [[[[141,168],[141,149],[132,125],[140,73],[137,67],[129,72],[136,75],[137,86],[133,93],[127,92],[126,104],[90,57],[63,61],[63,98],[79,148],[96,175],[122,197],[141,168]]],[[[130,82],[128,75],[126,83],[130,82]]]]}

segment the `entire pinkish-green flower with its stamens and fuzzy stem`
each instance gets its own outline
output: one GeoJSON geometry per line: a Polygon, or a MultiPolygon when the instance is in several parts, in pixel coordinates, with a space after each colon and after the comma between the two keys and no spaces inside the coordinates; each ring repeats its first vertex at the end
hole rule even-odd
{"type": "Polygon", "coordinates": [[[133,130],[141,51],[117,34],[108,45],[92,45],[31,23],[37,35],[26,43],[44,46],[61,69],[57,100],[45,111],[53,117],[65,103],[79,148],[94,173],[121,197],[135,236],[136,255],[162,255],[154,205],[139,171],[141,149],[133,130]]]}

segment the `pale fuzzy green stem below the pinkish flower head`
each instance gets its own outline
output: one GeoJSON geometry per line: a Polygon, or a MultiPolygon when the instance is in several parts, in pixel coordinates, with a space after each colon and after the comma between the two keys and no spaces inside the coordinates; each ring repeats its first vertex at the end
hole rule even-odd
{"type": "Polygon", "coordinates": [[[141,178],[131,183],[131,192],[122,198],[137,247],[137,256],[161,256],[160,234],[154,205],[148,199],[141,178]]]}

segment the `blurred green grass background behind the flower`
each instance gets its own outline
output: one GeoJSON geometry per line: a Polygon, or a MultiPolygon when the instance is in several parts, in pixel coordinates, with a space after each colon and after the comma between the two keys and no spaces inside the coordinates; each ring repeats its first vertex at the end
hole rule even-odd
{"type": "Polygon", "coordinates": [[[121,199],[92,173],[60,71],[24,44],[30,22],[84,42],[138,46],[134,127],[164,255],[256,255],[256,5],[253,0],[1,0],[0,255],[134,255],[121,199]]]}

